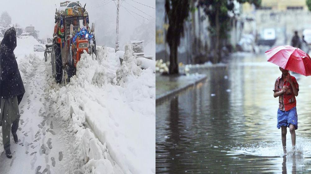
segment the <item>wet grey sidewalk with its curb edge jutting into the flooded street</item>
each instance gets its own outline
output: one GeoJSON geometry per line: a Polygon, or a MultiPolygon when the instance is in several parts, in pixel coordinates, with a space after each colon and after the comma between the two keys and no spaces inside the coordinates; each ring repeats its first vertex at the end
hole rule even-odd
{"type": "Polygon", "coordinates": [[[168,98],[206,79],[203,74],[163,76],[156,75],[156,102],[168,98]]]}

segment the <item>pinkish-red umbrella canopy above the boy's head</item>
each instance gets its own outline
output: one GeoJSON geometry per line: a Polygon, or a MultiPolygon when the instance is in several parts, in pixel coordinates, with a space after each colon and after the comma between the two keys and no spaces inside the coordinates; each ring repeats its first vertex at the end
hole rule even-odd
{"type": "Polygon", "coordinates": [[[301,49],[289,45],[277,46],[265,52],[268,62],[304,76],[311,76],[311,58],[301,49]]]}

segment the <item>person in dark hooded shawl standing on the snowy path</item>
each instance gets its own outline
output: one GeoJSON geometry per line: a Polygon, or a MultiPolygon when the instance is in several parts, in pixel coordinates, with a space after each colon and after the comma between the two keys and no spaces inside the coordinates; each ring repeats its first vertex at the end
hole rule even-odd
{"type": "Polygon", "coordinates": [[[19,123],[18,105],[25,93],[23,81],[18,70],[15,55],[16,31],[9,28],[0,43],[0,126],[2,126],[3,147],[7,158],[12,158],[10,150],[10,134],[15,143],[18,142],[16,131],[19,123]]]}

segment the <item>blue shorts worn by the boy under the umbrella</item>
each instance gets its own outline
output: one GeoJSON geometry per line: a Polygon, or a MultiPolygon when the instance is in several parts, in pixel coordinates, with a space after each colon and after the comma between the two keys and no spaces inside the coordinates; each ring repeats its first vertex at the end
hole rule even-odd
{"type": "Polygon", "coordinates": [[[290,124],[295,126],[295,130],[298,129],[298,116],[296,107],[290,109],[289,111],[277,110],[277,125],[278,129],[281,126],[290,127],[290,124]]]}

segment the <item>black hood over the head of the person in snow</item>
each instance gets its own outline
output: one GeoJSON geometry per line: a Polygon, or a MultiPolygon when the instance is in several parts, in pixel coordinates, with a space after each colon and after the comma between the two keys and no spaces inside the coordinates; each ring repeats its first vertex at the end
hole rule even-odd
{"type": "Polygon", "coordinates": [[[16,48],[16,31],[14,27],[7,29],[0,44],[1,47],[6,47],[11,52],[16,48]]]}

